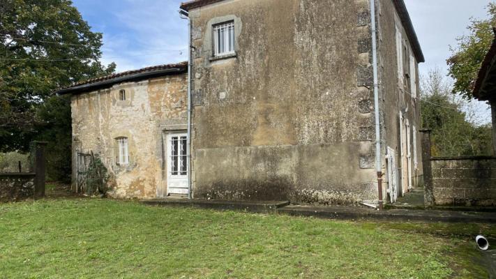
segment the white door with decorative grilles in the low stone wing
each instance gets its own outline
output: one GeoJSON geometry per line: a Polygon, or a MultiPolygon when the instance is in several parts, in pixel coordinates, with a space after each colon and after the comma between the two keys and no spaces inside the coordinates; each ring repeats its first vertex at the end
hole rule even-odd
{"type": "Polygon", "coordinates": [[[167,134],[167,195],[188,195],[188,149],[186,139],[186,133],[167,134]]]}

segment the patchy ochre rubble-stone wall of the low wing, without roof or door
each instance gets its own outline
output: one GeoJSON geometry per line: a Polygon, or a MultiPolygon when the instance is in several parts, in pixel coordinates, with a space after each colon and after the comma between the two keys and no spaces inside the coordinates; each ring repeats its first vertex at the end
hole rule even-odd
{"type": "Polygon", "coordinates": [[[165,195],[163,135],[186,130],[187,89],[185,73],[73,96],[73,183],[77,151],[93,151],[113,175],[114,197],[165,195]],[[126,100],[119,100],[121,89],[126,100]],[[127,166],[115,162],[117,137],[128,138],[127,166]]]}

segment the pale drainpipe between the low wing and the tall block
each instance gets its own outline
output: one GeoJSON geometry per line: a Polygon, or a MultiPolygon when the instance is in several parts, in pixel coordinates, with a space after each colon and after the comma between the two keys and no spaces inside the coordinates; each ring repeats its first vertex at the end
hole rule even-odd
{"type": "Polygon", "coordinates": [[[183,20],[188,20],[188,136],[186,138],[186,150],[188,151],[188,199],[193,197],[191,190],[191,18],[186,10],[179,10],[179,16],[183,20]]]}

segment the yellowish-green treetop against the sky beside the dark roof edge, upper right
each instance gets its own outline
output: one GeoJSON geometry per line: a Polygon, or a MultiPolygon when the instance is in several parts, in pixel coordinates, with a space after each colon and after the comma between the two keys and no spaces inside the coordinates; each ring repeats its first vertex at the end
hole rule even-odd
{"type": "Polygon", "coordinates": [[[472,19],[467,27],[469,34],[457,38],[458,45],[451,47],[452,55],[447,60],[449,75],[453,77],[453,93],[472,99],[475,81],[484,57],[493,43],[493,27],[496,27],[496,3],[488,4],[488,18],[472,19]]]}

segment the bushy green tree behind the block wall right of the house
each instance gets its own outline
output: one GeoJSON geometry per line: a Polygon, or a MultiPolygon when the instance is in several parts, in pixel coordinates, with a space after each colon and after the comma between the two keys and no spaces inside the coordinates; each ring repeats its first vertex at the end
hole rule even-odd
{"type": "Polygon", "coordinates": [[[490,155],[490,125],[476,125],[469,100],[452,91],[439,70],[430,71],[421,81],[422,126],[432,130],[433,156],[490,155]]]}

